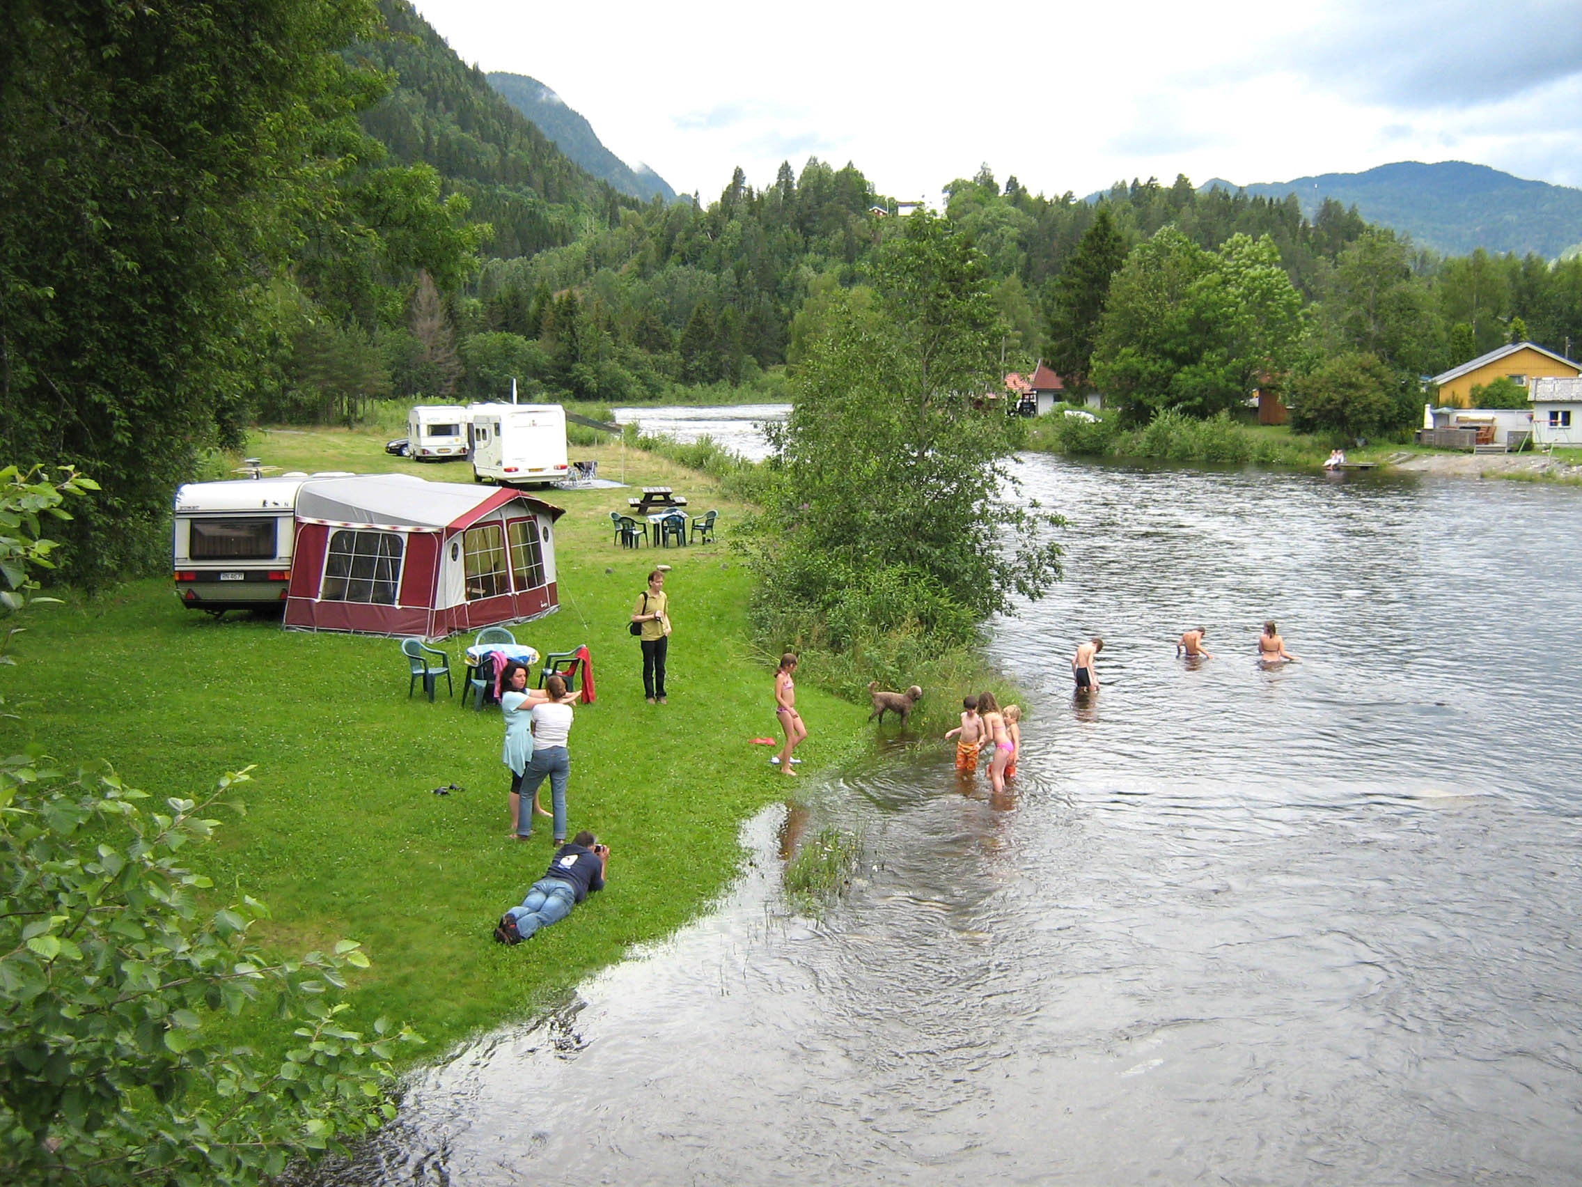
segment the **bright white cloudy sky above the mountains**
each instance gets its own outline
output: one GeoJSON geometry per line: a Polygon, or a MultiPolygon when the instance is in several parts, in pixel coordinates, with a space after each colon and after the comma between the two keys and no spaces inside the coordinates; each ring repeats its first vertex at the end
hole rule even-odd
{"type": "Polygon", "coordinates": [[[1079,196],[1402,160],[1582,185],[1582,0],[416,5],[704,203],[810,155],[930,203],[981,163],[1079,196]]]}

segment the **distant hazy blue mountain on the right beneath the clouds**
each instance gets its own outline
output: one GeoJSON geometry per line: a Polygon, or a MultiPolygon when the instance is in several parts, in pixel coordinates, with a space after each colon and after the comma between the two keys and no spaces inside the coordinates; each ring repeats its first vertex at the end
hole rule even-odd
{"type": "Polygon", "coordinates": [[[1243,187],[1215,177],[1199,192],[1213,187],[1266,198],[1294,193],[1310,218],[1324,198],[1334,198],[1356,206],[1370,223],[1405,231],[1421,247],[1446,255],[1484,247],[1517,255],[1536,252],[1554,260],[1582,242],[1582,190],[1467,161],[1398,161],[1367,173],[1326,173],[1243,187]]]}

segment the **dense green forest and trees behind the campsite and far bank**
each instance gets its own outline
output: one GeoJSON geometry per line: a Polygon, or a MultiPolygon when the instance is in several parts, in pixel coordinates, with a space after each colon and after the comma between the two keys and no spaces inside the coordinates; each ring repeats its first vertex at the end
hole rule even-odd
{"type": "MultiPolygon", "coordinates": [[[[0,461],[109,476],[73,529],[79,579],[157,565],[174,484],[253,421],[513,378],[606,402],[783,389],[906,225],[819,160],[639,203],[405,0],[264,9],[25,0],[0,24],[0,461]]],[[[1501,342],[1582,342],[1582,260],[1444,258],[1337,201],[1186,177],[1082,201],[987,166],[944,193],[1008,369],[1044,358],[1133,419],[1332,367],[1417,399],[1501,342]]]]}

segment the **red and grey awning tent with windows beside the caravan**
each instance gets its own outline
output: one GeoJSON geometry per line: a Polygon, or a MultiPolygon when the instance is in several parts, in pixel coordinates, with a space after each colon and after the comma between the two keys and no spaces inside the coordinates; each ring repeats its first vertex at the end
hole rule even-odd
{"type": "Polygon", "coordinates": [[[286,627],[437,639],[552,612],[558,506],[509,487],[302,483],[286,627]]]}

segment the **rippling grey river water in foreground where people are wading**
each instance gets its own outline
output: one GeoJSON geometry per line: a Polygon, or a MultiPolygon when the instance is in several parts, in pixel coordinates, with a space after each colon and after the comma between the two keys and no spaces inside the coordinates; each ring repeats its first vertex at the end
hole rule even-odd
{"type": "Polygon", "coordinates": [[[1069,576],[993,625],[1012,790],[886,726],[718,910],[326,1181],[1577,1181],[1582,495],[1017,470],[1069,576]],[[1266,617],[1300,663],[1256,666],[1266,617]],[[862,864],[810,920],[780,856],[823,821],[862,864]]]}

